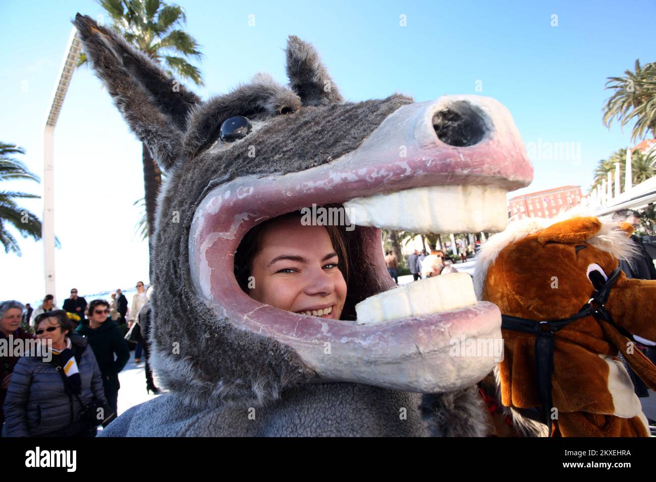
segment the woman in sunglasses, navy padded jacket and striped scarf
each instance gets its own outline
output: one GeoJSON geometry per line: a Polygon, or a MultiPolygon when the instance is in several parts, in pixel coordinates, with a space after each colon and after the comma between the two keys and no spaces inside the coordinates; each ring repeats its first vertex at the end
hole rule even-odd
{"type": "Polygon", "coordinates": [[[93,351],[73,334],[66,311],[43,313],[35,325],[37,338],[52,340],[52,350],[30,353],[16,363],[3,407],[3,436],[94,437],[96,428],[81,416],[94,398],[105,402],[93,351]]]}

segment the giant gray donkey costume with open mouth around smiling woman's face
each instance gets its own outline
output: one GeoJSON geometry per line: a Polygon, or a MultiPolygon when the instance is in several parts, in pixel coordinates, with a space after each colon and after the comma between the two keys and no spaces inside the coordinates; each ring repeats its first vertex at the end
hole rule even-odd
{"type": "Polygon", "coordinates": [[[151,343],[152,365],[171,392],[148,411],[126,412],[106,435],[485,433],[467,388],[491,370],[493,355],[454,357],[449,341],[501,338],[496,306],[367,325],[321,319],[247,296],[233,259],[266,219],[344,204],[358,225],[347,233],[344,313],[354,317],[355,304],[396,287],[381,227],[504,228],[506,191],[529,184],[533,171],[501,104],[399,94],[344,102],[316,50],[293,36],[289,87],[260,74],[202,101],[112,30],[79,14],[73,23],[117,108],[169,173],[151,240],[151,343]],[[252,130],[223,142],[220,126],[236,116],[252,130]],[[247,423],[245,407],[261,407],[256,422],[247,423]]]}

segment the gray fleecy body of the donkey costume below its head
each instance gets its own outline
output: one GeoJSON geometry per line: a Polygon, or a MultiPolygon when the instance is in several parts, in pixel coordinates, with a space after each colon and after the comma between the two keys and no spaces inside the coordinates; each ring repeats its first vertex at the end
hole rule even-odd
{"type": "Polygon", "coordinates": [[[485,436],[491,428],[475,393],[471,388],[430,395],[422,404],[419,393],[351,383],[302,384],[262,407],[234,403],[205,409],[167,393],[121,414],[100,436],[485,436]]]}

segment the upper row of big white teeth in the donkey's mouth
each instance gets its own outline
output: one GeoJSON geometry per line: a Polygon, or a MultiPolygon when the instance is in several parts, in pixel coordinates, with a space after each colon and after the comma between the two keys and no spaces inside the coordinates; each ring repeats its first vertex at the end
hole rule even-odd
{"type": "Polygon", "coordinates": [[[344,203],[352,224],[416,233],[502,231],[506,206],[506,191],[491,186],[411,188],[344,203]]]}

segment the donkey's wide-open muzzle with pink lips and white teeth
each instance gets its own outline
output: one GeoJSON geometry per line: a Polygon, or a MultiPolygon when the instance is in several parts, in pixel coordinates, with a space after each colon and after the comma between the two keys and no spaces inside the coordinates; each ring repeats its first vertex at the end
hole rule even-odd
{"type": "Polygon", "coordinates": [[[499,102],[444,96],[407,104],[338,159],[300,172],[241,177],[209,191],[190,231],[195,292],[237,329],[293,348],[318,380],[422,393],[471,386],[492,369],[495,355],[453,356],[451,340],[501,339],[499,309],[476,302],[465,273],[396,288],[380,228],[501,231],[506,192],[532,178],[520,135],[499,102]],[[344,231],[352,275],[343,320],[262,304],[234,277],[234,253],[247,231],[313,203],[341,204],[356,224],[344,231]]]}

